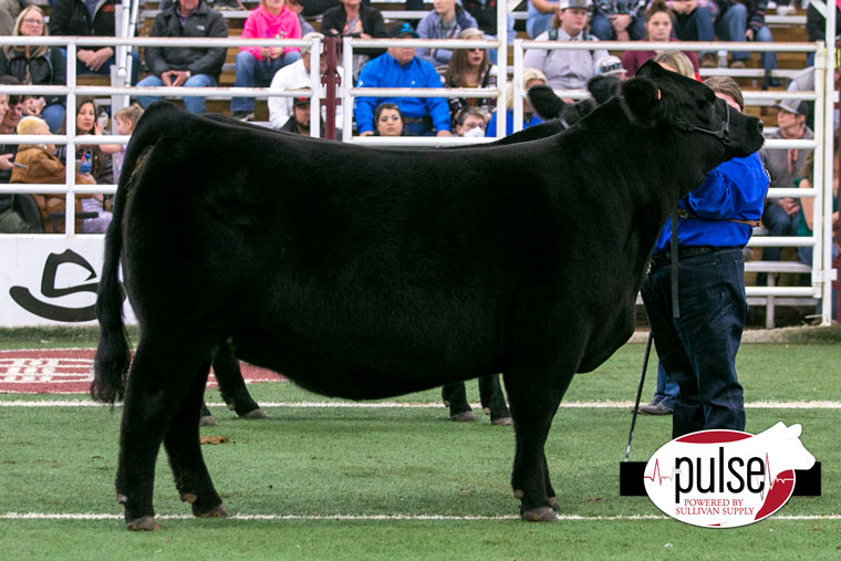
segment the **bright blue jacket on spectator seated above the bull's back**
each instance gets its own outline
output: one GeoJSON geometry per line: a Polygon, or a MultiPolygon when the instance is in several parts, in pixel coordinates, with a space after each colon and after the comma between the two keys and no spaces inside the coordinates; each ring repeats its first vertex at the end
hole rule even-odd
{"type": "MultiPolygon", "coordinates": [[[[388,53],[362,66],[356,87],[440,87],[435,67],[417,56],[401,64],[388,53]]],[[[406,118],[430,116],[435,131],[449,131],[449,104],[446,97],[356,97],[356,128],[374,129],[374,112],[381,103],[396,103],[406,118]]]]}

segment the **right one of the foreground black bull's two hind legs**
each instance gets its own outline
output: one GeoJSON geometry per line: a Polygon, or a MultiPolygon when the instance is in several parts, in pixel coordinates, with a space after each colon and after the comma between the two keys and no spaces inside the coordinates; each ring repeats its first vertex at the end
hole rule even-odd
{"type": "Polygon", "coordinates": [[[198,418],[209,367],[209,362],[204,364],[201,373],[195,377],[169,425],[164,446],[175,486],[181,500],[193,506],[193,513],[197,517],[225,517],[228,512],[210,480],[199,444],[198,418]]]}

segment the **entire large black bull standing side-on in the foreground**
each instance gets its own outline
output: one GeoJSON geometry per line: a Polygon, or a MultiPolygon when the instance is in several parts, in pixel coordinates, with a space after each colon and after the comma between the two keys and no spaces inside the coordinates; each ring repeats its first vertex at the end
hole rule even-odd
{"type": "Polygon", "coordinates": [[[677,200],[762,144],[761,123],[734,112],[727,138],[706,134],[726,114],[709,89],[654,63],[572,128],[503,146],[371,149],[150,107],[106,238],[92,385],[125,399],[127,527],[157,526],[162,441],[193,512],[227,513],[198,441],[226,344],[353,399],[501,372],[520,512],[554,519],[543,446],[573,374],[633,332],[647,254],[677,200]],[[121,256],[142,333],[127,378],[121,256]]]}

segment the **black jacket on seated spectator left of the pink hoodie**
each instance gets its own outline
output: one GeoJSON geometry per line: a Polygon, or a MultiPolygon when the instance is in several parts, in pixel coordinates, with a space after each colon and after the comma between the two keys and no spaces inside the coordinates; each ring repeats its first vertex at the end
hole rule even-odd
{"type": "MultiPolygon", "coordinates": [[[[199,1],[181,28],[173,3],[155,18],[149,37],[228,37],[228,24],[222,14],[199,1]]],[[[191,74],[209,74],[219,81],[227,49],[220,48],[146,48],[146,67],[156,76],[170,70],[188,70],[191,74]]]]}

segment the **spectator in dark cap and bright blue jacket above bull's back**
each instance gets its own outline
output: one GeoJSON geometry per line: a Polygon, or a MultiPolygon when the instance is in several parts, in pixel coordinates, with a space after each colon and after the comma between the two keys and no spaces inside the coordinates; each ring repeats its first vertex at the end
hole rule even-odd
{"type": "MultiPolygon", "coordinates": [[[[408,23],[391,30],[395,39],[417,38],[408,23]]],[[[435,66],[415,56],[414,46],[391,46],[362,67],[357,87],[443,87],[435,66]]],[[[449,105],[445,97],[356,97],[360,136],[374,134],[374,110],[383,102],[395,103],[409,136],[453,136],[449,105]]]]}

